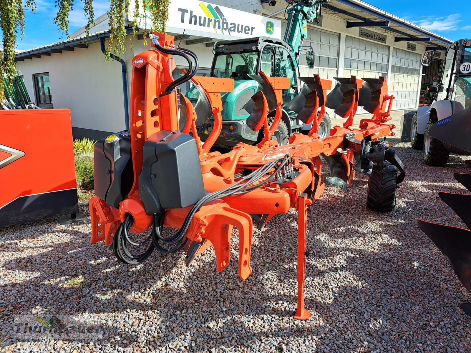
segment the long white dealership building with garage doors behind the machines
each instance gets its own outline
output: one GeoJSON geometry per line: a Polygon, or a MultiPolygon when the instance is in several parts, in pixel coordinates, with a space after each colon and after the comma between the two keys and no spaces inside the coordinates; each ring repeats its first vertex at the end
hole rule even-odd
{"type": "MultiPolygon", "coordinates": [[[[181,40],[181,46],[196,53],[200,61],[199,74],[209,74],[215,41],[260,35],[283,38],[284,4],[278,1],[270,6],[271,3],[260,4],[260,0],[172,1],[167,32],[181,40]],[[216,20],[209,23],[210,15],[205,12],[208,10],[221,11],[229,19],[227,27],[219,28],[221,24],[216,20]],[[272,34],[265,31],[267,21],[274,24],[272,34]],[[231,24],[235,24],[232,29],[231,24]]],[[[132,12],[131,9],[129,13],[132,12]]],[[[132,21],[132,18],[127,20],[132,21]]],[[[107,14],[98,17],[95,23],[88,45],[82,28],[65,42],[18,53],[16,67],[23,73],[26,88],[36,104],[71,109],[74,137],[99,139],[125,128],[124,101],[129,101],[131,59],[149,47],[143,47],[144,30],[133,38],[129,29],[122,63],[111,58],[105,63],[101,46],[107,45],[109,37],[107,14]],[[124,86],[127,86],[125,96],[124,86]]],[[[148,27],[146,21],[139,24],[148,27]]],[[[413,109],[419,101],[422,53],[444,48],[451,42],[363,1],[330,0],[323,5],[319,20],[308,24],[308,40],[303,43],[314,48],[316,66],[309,69],[301,55],[300,73],[301,76],[318,73],[331,80],[350,75],[358,78],[385,76],[390,94],[396,97],[393,109],[413,109]]],[[[185,67],[179,58],[176,60],[178,66],[185,67]]]]}

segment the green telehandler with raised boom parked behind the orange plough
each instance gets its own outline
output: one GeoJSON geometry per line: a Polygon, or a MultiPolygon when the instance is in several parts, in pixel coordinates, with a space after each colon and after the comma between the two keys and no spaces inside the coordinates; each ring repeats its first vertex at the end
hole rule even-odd
{"type": "MultiPolygon", "coordinates": [[[[328,1],[287,0],[288,24],[284,40],[262,36],[215,43],[210,75],[234,79],[234,91],[222,95],[223,125],[214,146],[232,149],[239,142],[256,144],[262,140],[263,131],[252,131],[245,123],[250,115],[245,109],[246,104],[261,89],[259,83],[250,75],[258,74],[260,71],[267,76],[291,79],[291,87],[283,91],[282,120],[272,139],[276,139],[278,145],[287,144],[289,136],[303,129],[302,121],[296,118],[297,113],[293,112],[287,104],[298,94],[296,71],[299,72],[298,60],[301,51],[306,52],[306,64],[310,68],[314,67],[312,47],[303,46],[302,43],[307,38],[307,23],[320,16],[322,3],[328,1]]],[[[200,92],[196,87],[190,88],[187,92],[187,98],[195,105],[195,109],[199,95],[200,92]]],[[[275,111],[271,112],[271,115],[274,117],[275,111]]],[[[203,121],[205,122],[198,126],[198,135],[202,141],[205,141],[211,132],[213,118],[203,119],[203,121]]],[[[309,128],[304,127],[307,130],[309,128]]],[[[330,117],[327,113],[319,126],[318,133],[321,137],[330,135],[330,117]]]]}

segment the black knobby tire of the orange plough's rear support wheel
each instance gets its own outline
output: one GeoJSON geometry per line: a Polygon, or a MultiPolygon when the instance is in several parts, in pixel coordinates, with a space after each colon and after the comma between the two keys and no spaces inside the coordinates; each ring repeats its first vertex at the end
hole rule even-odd
{"type": "Polygon", "coordinates": [[[376,212],[390,212],[396,207],[398,168],[385,161],[382,171],[372,170],[368,178],[366,205],[376,212]]]}

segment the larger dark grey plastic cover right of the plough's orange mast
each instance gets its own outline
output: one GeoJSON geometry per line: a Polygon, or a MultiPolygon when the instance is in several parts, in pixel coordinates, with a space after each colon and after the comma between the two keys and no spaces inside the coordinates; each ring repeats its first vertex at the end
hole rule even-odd
{"type": "Polygon", "coordinates": [[[194,205],[206,193],[195,139],[159,131],[144,143],[139,196],[148,215],[194,205]]]}

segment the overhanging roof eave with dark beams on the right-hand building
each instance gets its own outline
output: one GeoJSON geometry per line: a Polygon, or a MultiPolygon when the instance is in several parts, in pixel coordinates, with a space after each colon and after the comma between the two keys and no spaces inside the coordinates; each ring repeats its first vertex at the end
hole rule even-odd
{"type": "Polygon", "coordinates": [[[382,29],[391,32],[397,42],[425,43],[427,50],[444,49],[454,42],[361,0],[330,0],[330,2],[323,4],[323,10],[325,13],[339,16],[347,21],[347,28],[382,29]]]}

